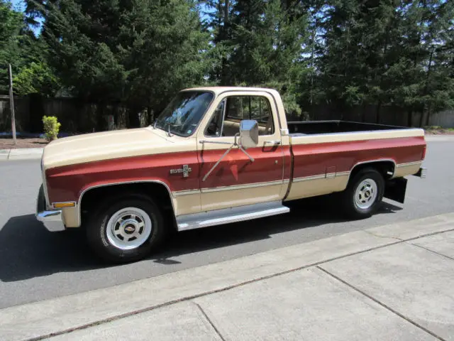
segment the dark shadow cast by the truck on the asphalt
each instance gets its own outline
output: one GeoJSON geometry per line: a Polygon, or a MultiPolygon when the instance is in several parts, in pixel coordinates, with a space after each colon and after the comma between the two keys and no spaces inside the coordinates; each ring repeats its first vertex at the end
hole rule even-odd
{"type": "MultiPolygon", "coordinates": [[[[145,261],[175,266],[180,261],[172,257],[236,244],[271,238],[272,234],[343,222],[336,210],[327,210],[319,200],[293,202],[292,211],[282,216],[238,222],[206,229],[172,234],[162,251],[145,261]]],[[[392,213],[400,207],[384,203],[378,214],[392,213]]],[[[11,217],[0,229],[0,281],[22,281],[59,272],[87,271],[109,267],[100,261],[85,239],[81,229],[48,232],[34,215],[11,217]]]]}

